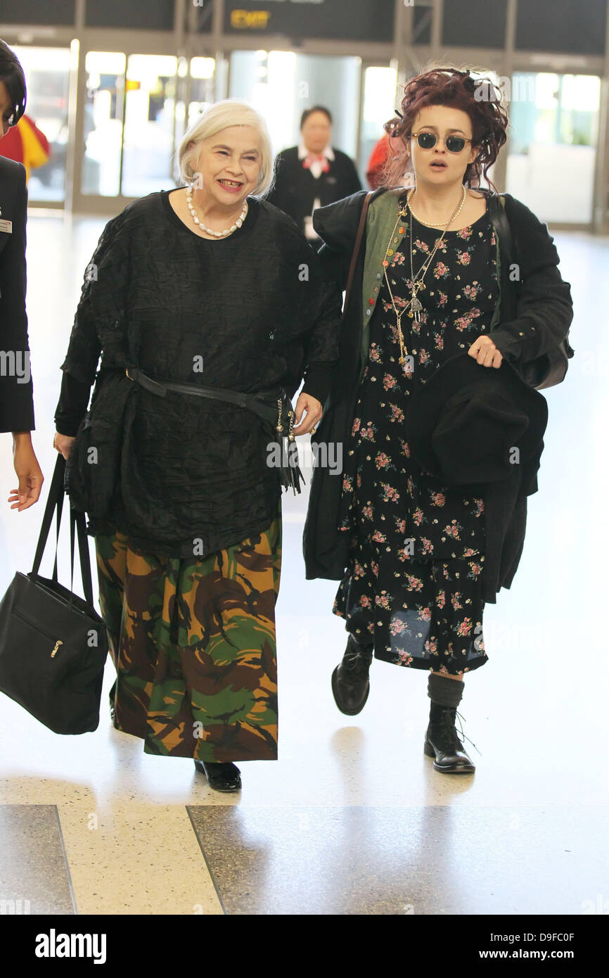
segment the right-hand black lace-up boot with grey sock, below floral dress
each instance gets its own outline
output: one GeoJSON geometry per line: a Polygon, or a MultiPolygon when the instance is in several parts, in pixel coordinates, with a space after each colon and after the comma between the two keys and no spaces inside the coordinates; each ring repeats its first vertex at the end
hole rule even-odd
{"type": "Polygon", "coordinates": [[[430,673],[427,695],[431,699],[429,725],[423,750],[433,757],[436,771],[445,775],[471,775],[476,770],[455,728],[457,706],[463,695],[460,680],[430,673]]]}

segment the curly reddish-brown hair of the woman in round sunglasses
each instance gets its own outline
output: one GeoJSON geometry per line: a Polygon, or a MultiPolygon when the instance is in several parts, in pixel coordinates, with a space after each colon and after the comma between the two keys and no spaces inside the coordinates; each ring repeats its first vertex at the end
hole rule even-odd
{"type": "Polygon", "coordinates": [[[433,67],[413,75],[404,86],[400,111],[396,110],[397,114],[383,127],[392,137],[393,153],[387,157],[378,186],[400,186],[404,183],[404,174],[412,169],[404,139],[410,137],[418,112],[428,106],[450,106],[469,115],[472,148],[479,151],[473,163],[468,164],[463,183],[478,187],[480,175],[484,174],[485,180],[498,192],[488,171],[507,139],[507,112],[501,102],[500,88],[490,78],[474,80],[468,69],[461,71],[455,67],[433,67]]]}

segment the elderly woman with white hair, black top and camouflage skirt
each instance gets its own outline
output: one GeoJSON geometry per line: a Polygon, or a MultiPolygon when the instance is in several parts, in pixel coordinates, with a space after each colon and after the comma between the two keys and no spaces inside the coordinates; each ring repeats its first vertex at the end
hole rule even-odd
{"type": "Polygon", "coordinates": [[[294,469],[270,446],[322,417],[341,299],[264,200],[274,159],[257,111],[211,106],[178,156],[186,186],[129,204],[87,267],[55,447],[95,538],[114,727],[231,791],[233,762],[278,756],[281,495],[294,469]]]}

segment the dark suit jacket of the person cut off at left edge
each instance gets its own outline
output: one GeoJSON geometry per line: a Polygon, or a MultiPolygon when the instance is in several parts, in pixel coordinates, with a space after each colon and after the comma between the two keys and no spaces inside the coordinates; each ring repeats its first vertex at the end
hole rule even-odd
{"type": "Polygon", "coordinates": [[[0,343],[6,358],[0,376],[0,431],[33,431],[33,384],[25,312],[25,170],[14,183],[13,232],[0,252],[0,343]]]}

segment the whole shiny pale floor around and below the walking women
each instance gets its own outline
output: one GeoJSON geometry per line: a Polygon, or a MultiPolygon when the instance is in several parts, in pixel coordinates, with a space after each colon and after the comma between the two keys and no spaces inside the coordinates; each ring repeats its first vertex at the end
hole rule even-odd
{"type": "MultiPolygon", "coordinates": [[[[34,444],[47,487],[59,365],[101,228],[28,223],[34,444]]],[[[304,580],[306,492],[284,496],[279,761],[239,763],[240,796],[221,795],[191,762],[145,755],[105,707],[95,733],[61,737],[1,696],[0,901],[29,900],[32,913],[577,914],[609,900],[609,277],[597,274],[609,242],[555,241],[577,356],[546,392],[524,555],[511,590],[485,611],[490,660],[465,680],[475,776],[439,775],[423,756],[421,672],[374,662],[364,712],[337,711],[335,585],[304,580]]],[[[6,500],[9,435],[0,451],[6,500]]],[[[41,515],[41,505],[3,505],[0,594],[30,568],[41,515]]],[[[65,545],[60,559],[62,574],[65,545]]],[[[109,666],[105,691],[111,681],[109,666]]]]}

